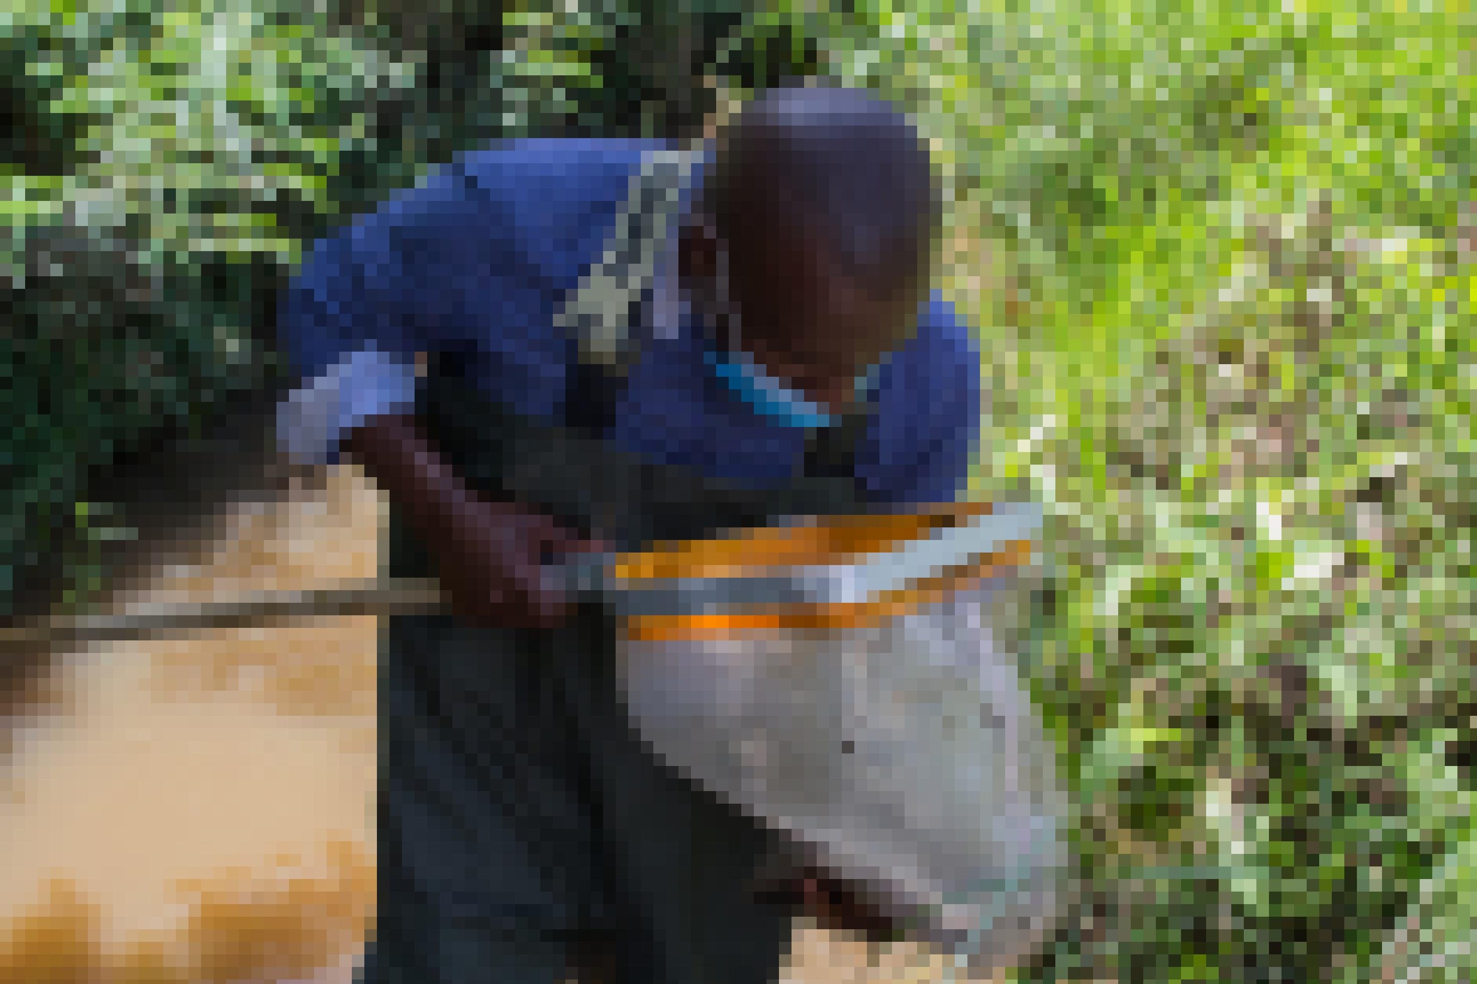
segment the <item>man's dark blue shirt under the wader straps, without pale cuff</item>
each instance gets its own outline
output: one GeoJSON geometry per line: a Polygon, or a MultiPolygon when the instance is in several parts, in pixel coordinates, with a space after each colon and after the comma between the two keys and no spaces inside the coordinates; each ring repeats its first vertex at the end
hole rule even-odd
{"type": "MultiPolygon", "coordinates": [[[[552,326],[598,258],[650,140],[514,140],[465,153],[321,240],[288,285],[279,335],[318,378],[365,347],[462,353],[474,382],[514,410],[560,420],[578,348],[552,326]]],[[[653,330],[609,440],[653,460],[753,485],[803,459],[806,429],[715,372],[709,332],[685,314],[653,330]]],[[[876,413],[857,478],[883,505],[951,502],[979,429],[979,353],[936,294],[871,378],[876,413]]]]}

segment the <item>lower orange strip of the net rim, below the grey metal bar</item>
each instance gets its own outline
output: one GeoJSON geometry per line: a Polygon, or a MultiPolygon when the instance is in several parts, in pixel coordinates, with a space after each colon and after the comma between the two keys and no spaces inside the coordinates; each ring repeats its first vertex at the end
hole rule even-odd
{"type": "Polygon", "coordinates": [[[700,615],[637,615],[623,624],[626,642],[715,642],[734,637],[772,639],[796,631],[833,633],[877,626],[939,605],[962,592],[1029,561],[1029,540],[1013,540],[973,564],[950,568],[867,602],[826,605],[759,605],[700,615]]]}

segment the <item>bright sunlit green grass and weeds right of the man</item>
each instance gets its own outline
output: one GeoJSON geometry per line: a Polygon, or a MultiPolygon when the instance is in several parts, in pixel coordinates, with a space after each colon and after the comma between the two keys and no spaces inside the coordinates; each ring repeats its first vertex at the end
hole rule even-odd
{"type": "Polygon", "coordinates": [[[984,240],[978,487],[1055,513],[1024,655],[1084,893],[1025,977],[1461,978],[1471,12],[837,6],[789,22],[984,240]]]}

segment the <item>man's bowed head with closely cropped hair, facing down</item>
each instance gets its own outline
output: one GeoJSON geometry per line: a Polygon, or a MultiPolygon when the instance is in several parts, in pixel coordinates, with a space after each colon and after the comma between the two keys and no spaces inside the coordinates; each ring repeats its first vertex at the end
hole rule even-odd
{"type": "Polygon", "coordinates": [[[721,342],[836,409],[914,328],[939,221],[904,114],[864,90],[770,90],[719,137],[682,279],[721,342]]]}

